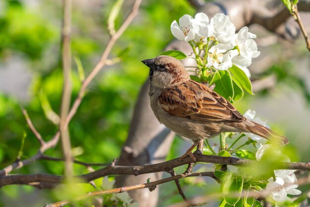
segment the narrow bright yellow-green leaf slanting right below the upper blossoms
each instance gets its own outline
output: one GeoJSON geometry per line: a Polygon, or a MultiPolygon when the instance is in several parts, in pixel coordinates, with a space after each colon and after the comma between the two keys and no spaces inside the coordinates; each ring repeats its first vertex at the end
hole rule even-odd
{"type": "Polygon", "coordinates": [[[251,95],[254,95],[252,92],[252,84],[249,79],[249,77],[236,65],[233,65],[231,68],[229,68],[229,71],[232,74],[232,79],[235,82],[239,82],[241,86],[251,95]]]}

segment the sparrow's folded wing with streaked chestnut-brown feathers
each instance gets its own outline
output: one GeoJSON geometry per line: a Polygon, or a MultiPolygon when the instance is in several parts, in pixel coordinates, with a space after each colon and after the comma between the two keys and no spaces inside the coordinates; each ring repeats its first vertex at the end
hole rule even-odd
{"type": "Polygon", "coordinates": [[[226,99],[207,86],[187,81],[164,90],[158,98],[170,115],[202,121],[243,121],[245,118],[226,99]]]}

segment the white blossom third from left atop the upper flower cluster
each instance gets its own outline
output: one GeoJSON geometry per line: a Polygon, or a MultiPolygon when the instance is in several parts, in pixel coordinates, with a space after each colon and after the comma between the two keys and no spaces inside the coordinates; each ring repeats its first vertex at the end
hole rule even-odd
{"type": "Polygon", "coordinates": [[[229,16],[221,13],[217,13],[211,18],[210,26],[214,28],[213,37],[220,43],[229,42],[236,31],[236,27],[231,23],[229,16]]]}

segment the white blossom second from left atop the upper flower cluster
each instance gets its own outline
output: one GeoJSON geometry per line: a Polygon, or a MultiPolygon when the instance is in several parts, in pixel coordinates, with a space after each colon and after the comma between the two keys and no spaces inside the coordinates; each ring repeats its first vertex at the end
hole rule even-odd
{"type": "Polygon", "coordinates": [[[194,19],[191,19],[192,25],[201,37],[211,37],[214,34],[214,28],[209,24],[209,18],[207,14],[200,12],[195,15],[194,19]]]}

